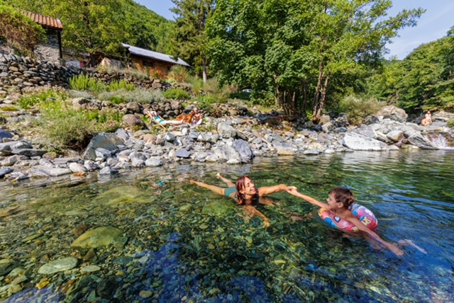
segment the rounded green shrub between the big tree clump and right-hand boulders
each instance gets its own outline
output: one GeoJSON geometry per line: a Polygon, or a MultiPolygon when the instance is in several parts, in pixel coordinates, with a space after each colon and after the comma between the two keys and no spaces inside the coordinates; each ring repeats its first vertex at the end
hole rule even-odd
{"type": "Polygon", "coordinates": [[[339,103],[339,110],[348,116],[348,120],[353,125],[358,125],[363,118],[368,115],[375,115],[384,104],[377,101],[376,98],[364,100],[356,96],[347,96],[339,103]]]}

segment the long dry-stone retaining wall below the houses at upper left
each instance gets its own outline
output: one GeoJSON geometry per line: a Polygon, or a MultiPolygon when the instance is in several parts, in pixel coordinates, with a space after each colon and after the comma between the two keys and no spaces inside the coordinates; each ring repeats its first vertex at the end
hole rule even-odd
{"type": "Polygon", "coordinates": [[[60,86],[67,88],[72,76],[88,74],[104,84],[112,81],[124,80],[135,87],[145,89],[159,89],[160,81],[154,79],[140,79],[138,76],[126,72],[106,72],[97,69],[79,69],[64,67],[60,64],[18,57],[16,55],[0,54],[0,96],[10,91],[24,91],[26,88],[39,86],[60,86]]]}

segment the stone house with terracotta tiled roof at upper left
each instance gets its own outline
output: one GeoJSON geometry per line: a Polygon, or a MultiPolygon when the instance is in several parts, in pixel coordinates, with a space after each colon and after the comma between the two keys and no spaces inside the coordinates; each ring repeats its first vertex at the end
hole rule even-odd
{"type": "Polygon", "coordinates": [[[61,64],[62,54],[62,30],[63,25],[59,18],[43,16],[39,13],[21,11],[24,15],[39,25],[43,26],[47,41],[35,47],[35,55],[40,60],[61,64]]]}

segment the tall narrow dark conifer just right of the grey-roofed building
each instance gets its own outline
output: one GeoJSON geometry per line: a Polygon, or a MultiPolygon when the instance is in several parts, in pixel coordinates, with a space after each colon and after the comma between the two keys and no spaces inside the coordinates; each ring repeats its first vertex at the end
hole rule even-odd
{"type": "Polygon", "coordinates": [[[202,78],[206,82],[208,61],[206,57],[207,38],[205,25],[214,11],[215,0],[172,0],[177,15],[175,21],[174,52],[188,60],[196,73],[201,69],[202,78]]]}

